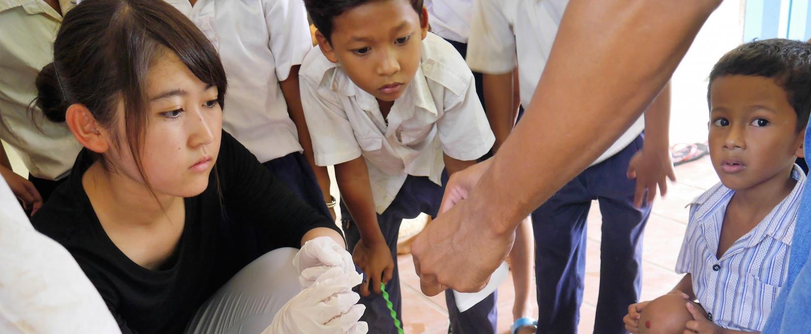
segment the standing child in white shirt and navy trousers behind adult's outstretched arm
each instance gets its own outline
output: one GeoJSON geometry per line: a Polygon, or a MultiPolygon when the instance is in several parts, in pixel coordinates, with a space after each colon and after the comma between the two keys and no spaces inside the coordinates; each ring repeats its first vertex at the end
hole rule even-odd
{"type": "MultiPolygon", "coordinates": [[[[508,97],[513,96],[516,66],[521,105],[530,104],[568,3],[474,2],[467,62],[474,71],[484,73],[485,96],[501,96],[500,102],[488,102],[487,113],[511,113],[508,97]]],[[[664,194],[666,178],[675,178],[667,143],[669,92],[665,88],[645,117],[637,119],[597,161],[532,213],[539,333],[577,332],[586,280],[586,217],[595,199],[603,225],[594,328],[599,333],[624,332],[617,319],[624,314],[625,304],[639,298],[642,235],[650,201],[657,185],[664,194]]]]}

